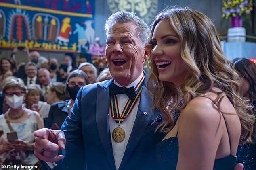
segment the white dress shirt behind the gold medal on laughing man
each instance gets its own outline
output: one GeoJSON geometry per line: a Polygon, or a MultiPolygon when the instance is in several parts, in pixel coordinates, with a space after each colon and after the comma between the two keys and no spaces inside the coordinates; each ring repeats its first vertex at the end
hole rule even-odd
{"type": "MultiPolygon", "coordinates": [[[[129,84],[128,86],[126,86],[127,88],[129,87],[135,87],[141,80],[141,78],[143,77],[143,72],[141,73],[141,75],[131,84],[129,84]]],[[[116,85],[120,86],[117,82],[115,82],[116,85]]],[[[120,86],[121,87],[121,86],[120,86]]],[[[118,109],[119,109],[119,114],[122,114],[122,111],[124,110],[124,107],[126,105],[126,102],[129,100],[129,98],[126,96],[126,94],[117,94],[116,95],[117,100],[118,100],[118,109]]],[[[140,103],[140,98],[138,98],[138,101],[136,102],[136,104],[134,105],[134,108],[132,109],[132,111],[129,113],[129,115],[124,119],[124,121],[120,124],[120,127],[122,129],[124,129],[125,131],[125,137],[124,140],[122,142],[115,142],[112,139],[112,132],[115,128],[118,127],[118,123],[116,123],[113,118],[111,117],[111,110],[109,107],[109,127],[110,127],[110,134],[111,134],[111,141],[112,141],[112,147],[113,147],[113,154],[114,154],[114,158],[115,158],[115,167],[118,170],[123,156],[124,156],[124,152],[126,150],[126,146],[127,143],[129,141],[131,132],[132,132],[132,128],[136,119],[136,115],[137,115],[137,111],[138,111],[138,105],[140,103]]],[[[120,116],[119,115],[119,116],[120,116]]]]}

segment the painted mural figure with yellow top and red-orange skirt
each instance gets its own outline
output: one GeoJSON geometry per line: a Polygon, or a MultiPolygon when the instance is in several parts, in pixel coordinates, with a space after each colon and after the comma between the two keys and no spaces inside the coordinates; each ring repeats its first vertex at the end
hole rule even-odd
{"type": "Polygon", "coordinates": [[[67,43],[69,42],[69,34],[72,34],[70,18],[66,17],[62,20],[61,31],[57,38],[59,40],[59,44],[62,44],[61,42],[63,42],[64,45],[67,45],[67,43]]]}

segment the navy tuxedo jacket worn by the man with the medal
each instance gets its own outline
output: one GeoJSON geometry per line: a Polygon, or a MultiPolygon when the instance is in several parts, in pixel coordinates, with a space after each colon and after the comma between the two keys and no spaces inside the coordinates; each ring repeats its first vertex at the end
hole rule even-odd
{"type": "MultiPolygon", "coordinates": [[[[67,139],[63,160],[55,169],[116,170],[109,130],[109,84],[106,80],[80,88],[61,129],[67,139]],[[86,161],[85,161],[86,160],[86,161]]],[[[119,170],[159,170],[155,147],[164,137],[151,122],[160,112],[151,109],[145,76],[138,112],[119,170]],[[145,114],[145,112],[147,114],[145,114]],[[143,114],[144,113],[144,114],[143,114]]]]}

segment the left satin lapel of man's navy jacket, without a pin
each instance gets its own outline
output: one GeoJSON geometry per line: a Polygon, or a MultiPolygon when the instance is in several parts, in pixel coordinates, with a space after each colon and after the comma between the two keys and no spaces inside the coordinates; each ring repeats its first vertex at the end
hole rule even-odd
{"type": "MultiPolygon", "coordinates": [[[[108,83],[109,85],[109,83],[108,83]]],[[[105,85],[104,85],[105,86],[105,85]]],[[[115,170],[115,159],[112,149],[111,135],[109,130],[109,88],[97,86],[97,109],[96,109],[96,123],[101,143],[104,147],[107,158],[115,170]]]]}

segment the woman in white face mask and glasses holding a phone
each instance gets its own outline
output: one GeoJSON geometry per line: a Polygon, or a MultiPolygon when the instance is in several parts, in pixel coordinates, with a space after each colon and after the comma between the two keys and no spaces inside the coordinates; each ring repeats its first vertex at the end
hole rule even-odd
{"type": "Polygon", "coordinates": [[[0,115],[0,130],[4,134],[0,138],[0,164],[35,164],[40,166],[34,156],[34,131],[43,128],[43,122],[36,111],[22,106],[27,88],[20,78],[6,80],[3,96],[9,109],[0,115]],[[7,137],[8,132],[15,131],[17,139],[12,143],[7,137]],[[15,162],[12,162],[11,152],[17,152],[15,162]]]}

